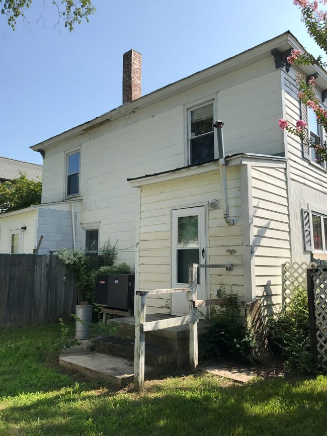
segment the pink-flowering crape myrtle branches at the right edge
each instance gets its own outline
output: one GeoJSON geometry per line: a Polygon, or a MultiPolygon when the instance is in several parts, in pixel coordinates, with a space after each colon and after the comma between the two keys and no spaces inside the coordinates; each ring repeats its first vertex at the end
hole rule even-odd
{"type": "MultiPolygon", "coordinates": [[[[301,10],[302,21],[307,28],[309,35],[315,40],[318,46],[327,53],[327,0],[294,0],[294,5],[301,10]]],[[[301,53],[300,50],[292,50],[291,55],[287,58],[287,62],[294,65],[319,65],[327,67],[327,62],[322,56],[314,57],[310,54],[301,53]]],[[[317,122],[327,132],[327,111],[323,109],[316,97],[314,78],[311,76],[309,80],[303,74],[296,74],[299,92],[298,98],[301,103],[311,108],[317,122]]],[[[286,129],[288,132],[299,136],[303,141],[307,141],[308,145],[314,149],[318,157],[318,161],[327,160],[327,150],[325,144],[315,143],[313,139],[305,135],[306,123],[303,120],[298,120],[296,126],[292,127],[288,121],[280,119],[279,126],[281,129],[286,129]]]]}

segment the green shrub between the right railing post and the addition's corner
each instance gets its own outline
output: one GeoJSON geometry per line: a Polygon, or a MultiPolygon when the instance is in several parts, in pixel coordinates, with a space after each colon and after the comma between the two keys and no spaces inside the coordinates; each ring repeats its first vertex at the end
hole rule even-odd
{"type": "MultiPolygon", "coordinates": [[[[226,294],[223,289],[219,297],[236,296],[226,294]]],[[[199,340],[207,358],[224,358],[252,364],[258,362],[254,356],[254,335],[245,320],[240,318],[240,305],[236,298],[226,306],[212,307],[210,323],[210,330],[199,340]]]]}

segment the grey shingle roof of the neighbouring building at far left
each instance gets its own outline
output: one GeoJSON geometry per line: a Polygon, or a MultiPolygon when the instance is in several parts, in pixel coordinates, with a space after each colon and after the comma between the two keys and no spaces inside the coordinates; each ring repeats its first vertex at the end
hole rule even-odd
{"type": "Polygon", "coordinates": [[[42,180],[42,165],[0,156],[0,181],[17,179],[20,172],[29,180],[42,180]]]}

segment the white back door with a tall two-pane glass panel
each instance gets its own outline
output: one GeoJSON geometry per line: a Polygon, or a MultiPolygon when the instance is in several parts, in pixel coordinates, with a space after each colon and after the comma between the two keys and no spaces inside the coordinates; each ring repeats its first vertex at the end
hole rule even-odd
{"type": "MultiPolygon", "coordinates": [[[[204,206],[172,211],[172,287],[184,288],[189,283],[189,264],[205,264],[204,206]]],[[[199,300],[206,298],[205,270],[198,271],[199,300]]],[[[185,293],[172,294],[172,314],[188,314],[185,293]]]]}

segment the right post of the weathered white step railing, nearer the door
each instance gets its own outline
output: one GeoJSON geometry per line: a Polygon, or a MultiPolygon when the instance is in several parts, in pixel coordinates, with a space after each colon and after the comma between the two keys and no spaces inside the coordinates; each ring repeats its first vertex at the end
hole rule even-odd
{"type": "MultiPolygon", "coordinates": [[[[189,315],[197,315],[198,309],[194,307],[194,300],[197,299],[197,278],[198,269],[193,264],[189,266],[189,286],[191,295],[189,299],[189,315]]],[[[198,323],[192,322],[189,324],[189,349],[190,349],[190,367],[191,371],[195,371],[198,366],[198,323]]]]}

